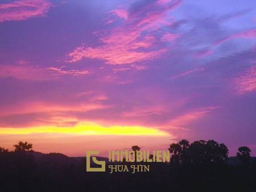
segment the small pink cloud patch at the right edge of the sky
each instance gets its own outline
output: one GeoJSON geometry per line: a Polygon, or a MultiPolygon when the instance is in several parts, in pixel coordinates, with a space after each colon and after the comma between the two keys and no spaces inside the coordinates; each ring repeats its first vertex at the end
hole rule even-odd
{"type": "Polygon", "coordinates": [[[234,80],[237,94],[246,94],[256,90],[256,65],[246,70],[245,74],[234,80]]]}

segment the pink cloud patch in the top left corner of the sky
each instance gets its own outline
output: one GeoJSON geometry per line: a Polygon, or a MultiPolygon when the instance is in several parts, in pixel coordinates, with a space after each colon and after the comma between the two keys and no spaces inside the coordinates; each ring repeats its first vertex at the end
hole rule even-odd
{"type": "Polygon", "coordinates": [[[9,20],[26,20],[45,15],[51,3],[47,0],[20,0],[0,4],[0,22],[9,20]]]}

